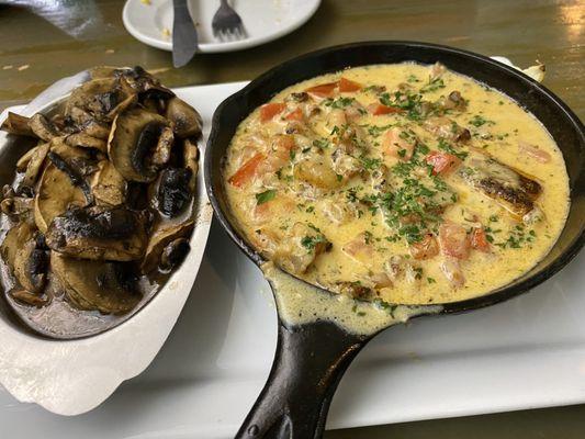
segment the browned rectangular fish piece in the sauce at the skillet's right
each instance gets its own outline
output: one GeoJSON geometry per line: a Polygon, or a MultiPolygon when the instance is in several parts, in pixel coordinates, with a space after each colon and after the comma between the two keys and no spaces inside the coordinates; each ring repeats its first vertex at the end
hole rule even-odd
{"type": "Polygon", "coordinates": [[[537,181],[483,154],[472,154],[458,173],[468,184],[494,199],[517,217],[531,212],[535,200],[542,192],[537,181]]]}

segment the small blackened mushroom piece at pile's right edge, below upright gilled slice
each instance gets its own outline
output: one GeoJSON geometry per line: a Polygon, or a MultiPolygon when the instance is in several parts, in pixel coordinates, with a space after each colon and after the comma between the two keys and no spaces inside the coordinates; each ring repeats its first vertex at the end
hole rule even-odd
{"type": "Polygon", "coordinates": [[[157,191],[157,207],[166,216],[179,215],[191,202],[189,185],[191,170],[187,168],[167,168],[160,172],[157,191]]]}

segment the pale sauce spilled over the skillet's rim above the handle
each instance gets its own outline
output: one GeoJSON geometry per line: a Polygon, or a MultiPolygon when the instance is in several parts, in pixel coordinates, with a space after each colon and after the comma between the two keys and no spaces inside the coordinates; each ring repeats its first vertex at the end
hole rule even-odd
{"type": "Polygon", "coordinates": [[[437,314],[442,309],[439,305],[396,305],[383,309],[346,294],[333,294],[312,286],[285,273],[273,262],[263,263],[261,269],[274,290],[279,315],[289,325],[329,320],[348,333],[370,336],[417,315],[437,314]]]}

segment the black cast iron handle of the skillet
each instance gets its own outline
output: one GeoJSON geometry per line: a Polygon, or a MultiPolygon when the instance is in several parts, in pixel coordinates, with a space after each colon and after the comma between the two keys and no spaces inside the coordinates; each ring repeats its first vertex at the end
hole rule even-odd
{"type": "Polygon", "coordinates": [[[368,340],[331,322],[281,322],[272,370],[236,439],[320,438],[337,384],[368,340]]]}

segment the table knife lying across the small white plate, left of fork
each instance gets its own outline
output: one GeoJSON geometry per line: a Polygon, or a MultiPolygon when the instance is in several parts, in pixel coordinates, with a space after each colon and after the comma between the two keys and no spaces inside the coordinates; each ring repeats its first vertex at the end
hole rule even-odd
{"type": "Polygon", "coordinates": [[[198,52],[198,31],[187,9],[187,0],[172,0],[172,65],[179,68],[198,52]]]}

